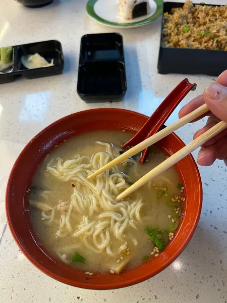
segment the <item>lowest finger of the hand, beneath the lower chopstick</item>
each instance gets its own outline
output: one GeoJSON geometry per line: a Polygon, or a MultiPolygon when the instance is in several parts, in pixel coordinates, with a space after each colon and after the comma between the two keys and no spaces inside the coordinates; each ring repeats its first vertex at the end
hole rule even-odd
{"type": "Polygon", "coordinates": [[[216,159],[227,158],[227,137],[221,138],[216,143],[202,147],[198,154],[198,164],[202,166],[210,166],[216,159]]]}

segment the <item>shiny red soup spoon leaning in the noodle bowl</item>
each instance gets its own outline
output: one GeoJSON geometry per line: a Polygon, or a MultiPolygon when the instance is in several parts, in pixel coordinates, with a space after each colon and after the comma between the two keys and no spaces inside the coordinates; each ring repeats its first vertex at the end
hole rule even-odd
{"type": "MultiPolygon", "coordinates": [[[[150,116],[144,126],[135,134],[135,136],[133,136],[128,142],[122,145],[122,147],[135,146],[158,132],[168,117],[179,105],[179,103],[189,93],[189,91],[195,89],[196,83],[189,83],[187,78],[181,81],[178,86],[176,86],[175,89],[172,90],[172,92],[169,93],[167,97],[162,101],[162,103],[159,105],[153,115],[150,116]]],[[[149,147],[144,149],[141,153],[140,161],[142,164],[146,159],[148,148],[149,147]]]]}

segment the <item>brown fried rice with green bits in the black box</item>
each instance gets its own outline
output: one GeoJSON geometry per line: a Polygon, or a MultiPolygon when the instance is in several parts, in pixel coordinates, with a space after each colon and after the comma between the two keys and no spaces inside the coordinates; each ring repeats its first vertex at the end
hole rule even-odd
{"type": "Polygon", "coordinates": [[[164,47],[227,51],[227,5],[193,5],[164,13],[161,45],[164,47]]]}

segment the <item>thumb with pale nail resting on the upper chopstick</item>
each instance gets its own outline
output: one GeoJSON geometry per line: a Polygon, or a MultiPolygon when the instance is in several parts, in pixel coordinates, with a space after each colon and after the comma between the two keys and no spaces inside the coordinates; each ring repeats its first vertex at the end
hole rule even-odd
{"type": "Polygon", "coordinates": [[[227,87],[210,83],[204,90],[203,97],[214,116],[227,122],[227,87]]]}

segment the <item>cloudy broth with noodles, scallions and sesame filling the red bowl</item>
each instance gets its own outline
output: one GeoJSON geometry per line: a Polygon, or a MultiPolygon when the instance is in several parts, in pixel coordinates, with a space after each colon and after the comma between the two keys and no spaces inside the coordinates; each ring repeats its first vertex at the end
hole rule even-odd
{"type": "Polygon", "coordinates": [[[40,164],[28,190],[31,222],[39,240],[55,258],[90,275],[119,274],[158,257],[174,238],[182,216],[184,188],[174,167],[120,203],[115,200],[165,160],[155,146],[144,165],[136,155],[87,180],[119,156],[131,136],[96,131],[63,142],[40,164]]]}

